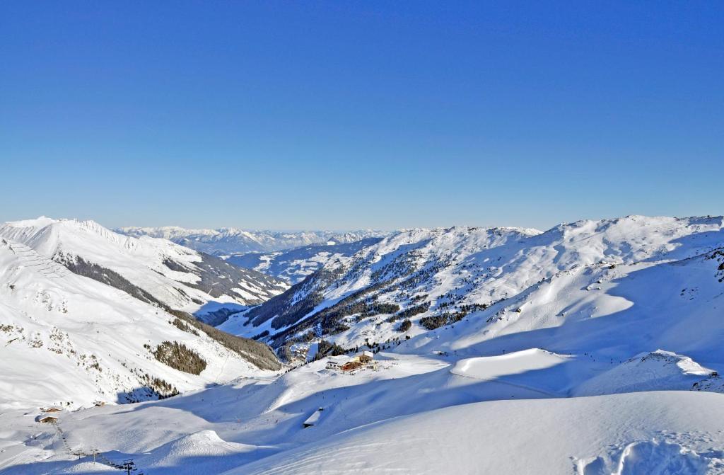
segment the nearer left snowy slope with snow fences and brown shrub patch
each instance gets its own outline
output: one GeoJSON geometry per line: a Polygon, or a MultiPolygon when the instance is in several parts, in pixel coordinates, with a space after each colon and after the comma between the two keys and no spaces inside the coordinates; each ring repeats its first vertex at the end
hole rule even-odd
{"type": "Polygon", "coordinates": [[[0,410],[148,400],[280,368],[265,345],[220,335],[0,238],[0,410]]]}

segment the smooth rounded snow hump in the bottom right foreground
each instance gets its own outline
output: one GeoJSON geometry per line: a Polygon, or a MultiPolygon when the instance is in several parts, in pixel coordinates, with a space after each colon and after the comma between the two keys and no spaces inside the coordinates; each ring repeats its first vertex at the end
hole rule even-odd
{"type": "Polygon", "coordinates": [[[721,474],[724,453],[712,445],[724,446],[723,402],[675,392],[478,402],[362,426],[227,474],[721,474]]]}

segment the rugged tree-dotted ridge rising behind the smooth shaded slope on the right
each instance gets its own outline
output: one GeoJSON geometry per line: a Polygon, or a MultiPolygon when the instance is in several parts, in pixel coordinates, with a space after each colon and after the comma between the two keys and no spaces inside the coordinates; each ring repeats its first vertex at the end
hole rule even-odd
{"type": "MultiPolygon", "coordinates": [[[[590,297],[578,292],[604,286],[617,266],[672,263],[723,246],[721,217],[581,220],[543,233],[463,226],[409,229],[355,255],[329,261],[324,272],[308,277],[268,306],[251,310],[251,325],[244,325],[247,322],[241,318],[226,328],[257,334],[263,327],[269,330],[267,341],[282,344],[321,325],[323,337],[354,347],[365,338],[379,342],[400,336],[398,319],[412,319],[411,336],[455,323],[469,313],[481,313],[481,324],[473,332],[492,338],[565,321],[550,316],[556,313],[550,302],[565,302],[557,292],[565,289],[571,297],[590,297]],[[288,307],[280,307],[285,299],[288,307]],[[379,307],[380,303],[393,306],[379,307]],[[376,318],[363,316],[381,313],[377,307],[399,307],[400,311],[376,318]],[[529,308],[538,307],[539,318],[516,316],[531,315],[529,308]]],[[[704,266],[710,272],[708,268],[704,266]]],[[[635,269],[619,268],[616,273],[635,269]]],[[[620,311],[630,304],[610,299],[599,305],[589,315],[620,311]]],[[[571,313],[562,303],[555,308],[571,313]]],[[[476,337],[455,338],[470,342],[476,337]]]]}

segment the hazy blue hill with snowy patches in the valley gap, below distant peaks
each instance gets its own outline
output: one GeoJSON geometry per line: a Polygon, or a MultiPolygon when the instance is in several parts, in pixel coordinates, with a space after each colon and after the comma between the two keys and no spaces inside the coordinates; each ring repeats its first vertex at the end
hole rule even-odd
{"type": "Polygon", "coordinates": [[[297,284],[327,263],[340,257],[349,257],[379,241],[382,241],[382,238],[367,238],[345,244],[313,244],[285,251],[245,252],[224,259],[239,267],[257,270],[290,284],[297,284]]]}

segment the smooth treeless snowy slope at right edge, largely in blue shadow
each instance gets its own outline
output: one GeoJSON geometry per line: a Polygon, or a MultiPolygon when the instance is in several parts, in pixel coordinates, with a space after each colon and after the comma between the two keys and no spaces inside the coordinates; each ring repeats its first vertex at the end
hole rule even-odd
{"type": "Polygon", "coordinates": [[[723,262],[719,250],[709,250],[681,260],[577,267],[409,344],[460,355],[544,347],[608,365],[661,349],[720,364],[723,262]]]}

